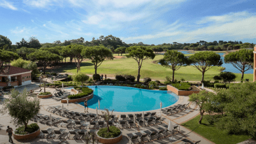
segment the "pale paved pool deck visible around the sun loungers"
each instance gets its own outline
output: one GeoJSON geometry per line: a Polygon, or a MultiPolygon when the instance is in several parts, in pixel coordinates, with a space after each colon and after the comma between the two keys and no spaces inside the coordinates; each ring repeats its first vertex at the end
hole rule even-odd
{"type": "MultiPolygon", "coordinates": [[[[33,88],[35,89],[39,89],[39,88],[33,88]]],[[[30,88],[28,88],[28,90],[30,90],[30,88]]],[[[46,88],[46,90],[48,92],[53,92],[54,89],[53,88],[46,88]]],[[[6,96],[5,96],[6,97],[6,96]]],[[[184,104],[184,103],[188,103],[188,96],[179,96],[179,100],[177,101],[177,103],[175,103],[174,105],[177,104],[184,104]]],[[[48,106],[56,106],[56,105],[62,105],[62,103],[60,103],[60,101],[55,101],[52,98],[47,98],[47,99],[41,99],[41,110],[40,113],[43,115],[52,115],[53,117],[60,117],[59,115],[55,115],[53,113],[49,113],[49,111],[46,111],[48,106]]],[[[2,105],[0,105],[0,108],[2,107],[2,105]]],[[[77,112],[85,112],[85,109],[82,105],[79,105],[78,103],[69,103],[68,105],[66,103],[64,103],[64,107],[68,108],[71,111],[77,111],[77,112]]],[[[157,112],[157,115],[160,115],[160,109],[154,110],[157,112]]],[[[146,112],[146,111],[144,111],[146,112]]],[[[153,112],[153,111],[151,111],[153,112]]],[[[96,113],[95,109],[89,109],[89,113],[96,113]]],[[[129,112],[114,112],[114,115],[117,115],[117,117],[119,117],[121,114],[128,114],[129,112]]],[[[140,113],[140,112],[135,112],[135,113],[140,113]]],[[[131,112],[131,114],[134,114],[134,112],[131,112]]],[[[196,117],[197,115],[199,115],[199,111],[198,111],[198,107],[196,107],[196,105],[194,105],[193,103],[190,104],[190,109],[187,109],[186,111],[182,111],[180,113],[177,113],[175,115],[171,115],[171,116],[167,116],[165,114],[161,114],[161,117],[163,119],[163,123],[168,124],[169,120],[171,120],[171,122],[173,124],[182,124],[183,122],[186,122],[194,117],[196,117]]],[[[7,126],[11,126],[11,128],[13,130],[15,130],[17,127],[14,126],[12,123],[10,123],[11,121],[11,117],[8,114],[5,115],[1,115],[0,114],[0,143],[9,143],[9,137],[8,135],[4,135],[5,130],[7,128],[7,126]]],[[[68,118],[63,118],[60,117],[62,119],[68,119],[68,118]]],[[[29,122],[29,124],[34,123],[32,121],[29,122]]],[[[38,123],[39,127],[41,130],[47,130],[48,128],[51,128],[51,126],[47,126],[45,124],[41,124],[38,123]]],[[[62,127],[60,126],[53,126],[53,128],[55,128],[55,130],[58,130],[62,127]]],[[[144,130],[144,128],[146,127],[142,127],[142,128],[125,128],[125,129],[121,129],[121,131],[123,132],[123,139],[118,143],[118,144],[123,144],[123,143],[129,143],[129,139],[127,138],[126,134],[129,133],[133,133],[133,132],[139,132],[140,130],[144,130]]],[[[181,133],[177,133],[175,134],[175,137],[178,139],[177,141],[171,142],[168,137],[162,138],[162,139],[156,139],[154,141],[150,141],[150,142],[146,142],[146,143],[173,143],[173,144],[181,144],[181,143],[185,143],[184,139],[188,139],[190,141],[201,141],[200,143],[213,143],[211,141],[209,141],[208,139],[205,139],[204,137],[202,137],[201,135],[196,134],[195,132],[192,132],[191,130],[189,130],[188,128],[185,128],[184,126],[180,126],[181,128],[181,133]]],[[[67,129],[67,128],[66,128],[67,129]]],[[[66,132],[68,132],[68,129],[66,130],[66,132]]],[[[13,138],[12,138],[13,139],[13,138]]],[[[30,141],[16,141],[15,139],[13,139],[14,143],[63,143],[64,141],[60,142],[60,140],[58,139],[54,139],[54,141],[47,141],[47,139],[40,139],[39,137],[32,139],[30,141]]],[[[75,140],[71,140],[71,139],[67,139],[64,143],[77,143],[75,140]]]]}

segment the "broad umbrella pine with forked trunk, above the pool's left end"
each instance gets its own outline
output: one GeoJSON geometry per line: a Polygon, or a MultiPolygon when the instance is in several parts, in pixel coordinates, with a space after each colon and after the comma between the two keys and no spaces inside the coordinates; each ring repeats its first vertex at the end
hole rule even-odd
{"type": "Polygon", "coordinates": [[[97,74],[97,68],[106,58],[110,60],[114,58],[111,50],[104,46],[87,47],[83,49],[81,55],[91,60],[93,65],[95,65],[95,74],[97,74]]]}

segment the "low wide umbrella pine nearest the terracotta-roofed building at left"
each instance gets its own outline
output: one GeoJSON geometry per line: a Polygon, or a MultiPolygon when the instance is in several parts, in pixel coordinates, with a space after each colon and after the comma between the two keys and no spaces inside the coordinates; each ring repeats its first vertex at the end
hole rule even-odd
{"type": "Polygon", "coordinates": [[[36,52],[32,52],[31,54],[28,54],[27,57],[33,62],[39,63],[39,65],[43,67],[44,73],[47,66],[52,65],[56,61],[62,60],[62,56],[58,56],[57,54],[53,54],[45,50],[38,50],[36,52]]]}

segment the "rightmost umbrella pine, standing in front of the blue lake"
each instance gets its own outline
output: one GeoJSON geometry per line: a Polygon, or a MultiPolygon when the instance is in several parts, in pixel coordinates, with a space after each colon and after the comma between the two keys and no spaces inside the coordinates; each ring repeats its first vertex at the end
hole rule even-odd
{"type": "Polygon", "coordinates": [[[241,71],[244,79],[244,72],[253,69],[253,50],[241,49],[236,52],[231,52],[224,57],[225,63],[231,63],[236,69],[241,71]]]}

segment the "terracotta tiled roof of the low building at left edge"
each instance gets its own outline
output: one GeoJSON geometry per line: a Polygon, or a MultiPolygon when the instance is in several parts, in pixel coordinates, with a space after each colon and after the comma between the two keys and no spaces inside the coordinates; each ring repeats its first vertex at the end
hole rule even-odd
{"type": "Polygon", "coordinates": [[[20,67],[14,67],[12,65],[3,66],[0,68],[0,75],[13,75],[18,73],[25,73],[30,71],[29,69],[23,69],[20,67]]]}

